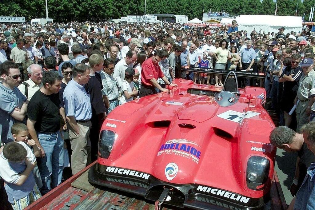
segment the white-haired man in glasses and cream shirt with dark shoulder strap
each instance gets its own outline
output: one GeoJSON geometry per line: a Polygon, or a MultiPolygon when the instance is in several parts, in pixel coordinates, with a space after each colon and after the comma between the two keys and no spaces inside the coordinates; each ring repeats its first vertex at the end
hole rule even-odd
{"type": "Polygon", "coordinates": [[[27,98],[27,100],[31,100],[32,96],[35,92],[43,86],[42,78],[43,78],[43,70],[42,67],[38,64],[32,64],[27,68],[27,73],[29,79],[22,82],[18,88],[21,93],[27,98]]]}

